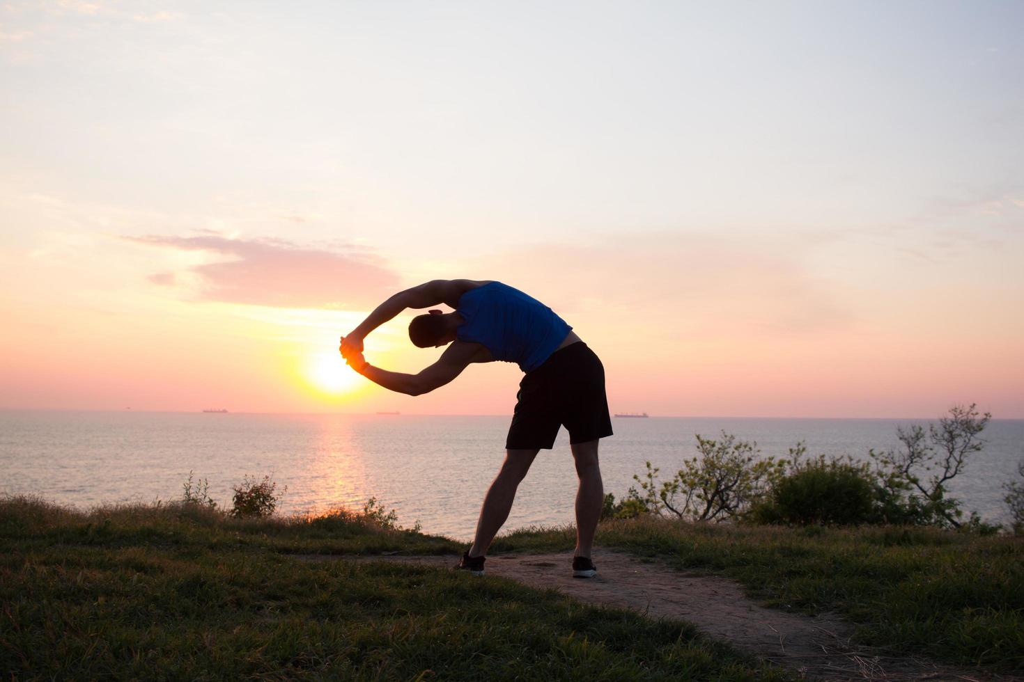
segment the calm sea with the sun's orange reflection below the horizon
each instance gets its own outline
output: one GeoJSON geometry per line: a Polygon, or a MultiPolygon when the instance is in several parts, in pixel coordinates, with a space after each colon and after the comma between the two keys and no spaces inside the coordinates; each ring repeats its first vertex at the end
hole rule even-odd
{"type": "MultiPolygon", "coordinates": [[[[754,441],[763,457],[896,448],[899,419],[657,417],[613,419],[600,445],[605,492],[636,485],[645,462],[670,475],[697,455],[695,435],[754,441]]],[[[483,494],[505,456],[505,416],[0,411],[0,494],[32,494],[88,509],[181,499],[183,485],[209,483],[230,506],[245,476],[278,484],[279,511],[361,508],[370,498],[407,528],[471,538],[483,494]]],[[[1004,484],[1020,480],[1024,420],[992,420],[984,449],[949,484],[965,510],[1007,522],[1004,484]]],[[[577,480],[568,435],[541,451],[519,488],[505,530],[572,522],[577,480]]]]}

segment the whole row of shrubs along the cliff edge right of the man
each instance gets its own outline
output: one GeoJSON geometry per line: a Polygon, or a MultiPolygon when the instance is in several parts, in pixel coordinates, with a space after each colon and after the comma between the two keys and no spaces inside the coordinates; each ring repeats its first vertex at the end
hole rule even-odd
{"type": "MultiPolygon", "coordinates": [[[[981,438],[991,414],[976,405],[954,406],[938,424],[896,429],[901,448],[868,452],[869,463],[849,456],[809,462],[803,443],[786,459],[759,457],[757,444],[722,431],[718,440],[697,435],[699,457],[683,460],[668,481],[646,463],[639,484],[615,504],[605,498],[602,518],[641,514],[675,515],[691,520],[750,518],[759,522],[807,525],[880,524],[933,526],[991,535],[999,530],[948,497],[948,484],[984,449],[981,438]]],[[[1024,462],[1021,464],[1024,475],[1024,462]]],[[[1014,529],[1024,533],[1024,485],[1009,483],[1006,501],[1014,529]]]]}

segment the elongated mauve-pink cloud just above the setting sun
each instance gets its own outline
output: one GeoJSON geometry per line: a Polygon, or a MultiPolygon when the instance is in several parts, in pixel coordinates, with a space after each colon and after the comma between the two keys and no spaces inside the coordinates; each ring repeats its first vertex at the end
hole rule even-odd
{"type": "MultiPolygon", "coordinates": [[[[227,257],[187,269],[201,282],[198,299],[202,301],[362,310],[393,293],[398,283],[395,273],[356,249],[342,253],[301,247],[281,239],[229,239],[209,233],[124,238],[151,246],[227,257]]],[[[174,272],[160,272],[151,275],[150,281],[173,286],[179,280],[174,272]]]]}

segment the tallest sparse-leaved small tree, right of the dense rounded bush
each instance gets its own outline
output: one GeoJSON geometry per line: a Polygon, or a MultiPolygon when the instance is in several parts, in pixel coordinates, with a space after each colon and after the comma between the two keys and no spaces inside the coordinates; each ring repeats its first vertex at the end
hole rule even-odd
{"type": "MultiPolygon", "coordinates": [[[[897,427],[902,449],[870,450],[884,520],[961,528],[961,502],[946,497],[946,484],[964,470],[972,454],[984,448],[980,434],[991,418],[988,412],[979,415],[974,403],[956,405],[939,418],[938,426],[929,424],[927,431],[919,425],[897,427]]],[[[971,522],[980,519],[972,514],[971,522]]]]}

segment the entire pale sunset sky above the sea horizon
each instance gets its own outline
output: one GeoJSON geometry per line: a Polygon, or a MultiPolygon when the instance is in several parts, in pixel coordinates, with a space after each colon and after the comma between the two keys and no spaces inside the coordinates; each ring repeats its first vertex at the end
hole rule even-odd
{"type": "Polygon", "coordinates": [[[146,7],[0,7],[0,408],[509,414],[512,365],[335,353],[470,278],[615,411],[1024,417],[1012,3],[146,7]]]}

